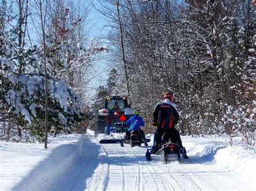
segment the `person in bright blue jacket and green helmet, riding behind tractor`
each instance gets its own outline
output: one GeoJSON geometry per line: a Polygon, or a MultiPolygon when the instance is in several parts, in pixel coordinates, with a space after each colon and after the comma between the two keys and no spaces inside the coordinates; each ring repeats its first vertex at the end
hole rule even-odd
{"type": "Polygon", "coordinates": [[[143,121],[143,118],[139,116],[139,110],[134,110],[134,116],[130,117],[130,119],[126,121],[126,125],[130,125],[130,128],[126,131],[126,140],[130,139],[131,131],[139,130],[140,135],[144,140],[144,145],[148,146],[145,133],[142,129],[140,129],[140,126],[145,126],[145,123],[143,121]]]}

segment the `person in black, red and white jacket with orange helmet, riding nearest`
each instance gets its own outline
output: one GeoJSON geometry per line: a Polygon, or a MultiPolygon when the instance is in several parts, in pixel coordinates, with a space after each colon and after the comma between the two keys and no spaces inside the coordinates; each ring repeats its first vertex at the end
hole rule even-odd
{"type": "Polygon", "coordinates": [[[173,142],[178,142],[183,149],[183,157],[187,159],[186,150],[182,145],[179,132],[174,128],[174,125],[179,121],[179,112],[176,104],[172,102],[173,91],[168,90],[164,94],[164,100],[158,102],[153,112],[153,122],[157,125],[156,133],[154,134],[153,153],[156,153],[161,147],[161,137],[167,135],[173,142]]]}

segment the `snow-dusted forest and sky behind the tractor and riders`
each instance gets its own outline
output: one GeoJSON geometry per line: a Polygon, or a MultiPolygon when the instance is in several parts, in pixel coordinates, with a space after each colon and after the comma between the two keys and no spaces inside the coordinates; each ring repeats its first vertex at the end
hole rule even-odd
{"type": "Polygon", "coordinates": [[[130,95],[152,133],[171,87],[181,135],[255,145],[254,12],[240,0],[2,0],[1,139],[83,133],[106,95],[130,95]],[[106,22],[93,38],[92,9],[106,22]]]}

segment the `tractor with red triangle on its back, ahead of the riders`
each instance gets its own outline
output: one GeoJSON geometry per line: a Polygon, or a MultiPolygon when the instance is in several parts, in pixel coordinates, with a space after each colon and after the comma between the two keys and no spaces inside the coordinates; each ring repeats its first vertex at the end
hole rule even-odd
{"type": "MultiPolygon", "coordinates": [[[[135,109],[130,108],[127,96],[106,96],[104,108],[98,112],[95,136],[104,133],[109,136],[112,133],[122,133],[127,130],[126,120],[133,116],[135,109]]],[[[100,143],[119,143],[118,139],[100,140],[100,143]]]]}

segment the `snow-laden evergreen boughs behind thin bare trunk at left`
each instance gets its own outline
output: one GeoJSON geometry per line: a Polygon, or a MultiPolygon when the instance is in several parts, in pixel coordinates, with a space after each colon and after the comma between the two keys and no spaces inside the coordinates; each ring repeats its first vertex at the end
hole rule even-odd
{"type": "MultiPolygon", "coordinates": [[[[44,122],[44,72],[42,49],[22,49],[15,31],[3,35],[1,51],[1,102],[12,112],[19,125],[30,134],[42,138],[44,122]],[[14,34],[13,38],[9,34],[14,34]],[[22,59],[22,62],[21,62],[22,59]],[[22,63],[22,66],[19,65],[22,63]],[[24,71],[21,73],[21,71],[24,71]]],[[[82,100],[66,84],[55,77],[48,79],[49,125],[55,133],[71,131],[82,109],[82,100]]]]}

